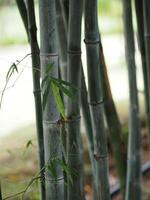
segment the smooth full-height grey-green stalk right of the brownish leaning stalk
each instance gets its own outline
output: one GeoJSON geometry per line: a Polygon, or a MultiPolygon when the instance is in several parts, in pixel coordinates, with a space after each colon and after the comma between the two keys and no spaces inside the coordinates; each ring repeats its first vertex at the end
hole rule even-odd
{"type": "Polygon", "coordinates": [[[136,83],[136,65],[135,65],[135,46],[134,31],[132,24],[131,0],[123,0],[123,19],[125,35],[125,52],[128,65],[129,77],[129,139],[128,139],[128,163],[127,163],[127,181],[125,199],[141,199],[141,162],[140,162],[140,122],[139,105],[136,83]]]}

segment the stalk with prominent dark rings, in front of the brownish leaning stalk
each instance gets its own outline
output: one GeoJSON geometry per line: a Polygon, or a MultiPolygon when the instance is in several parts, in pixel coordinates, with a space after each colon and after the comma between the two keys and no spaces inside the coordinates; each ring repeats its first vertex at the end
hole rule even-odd
{"type": "Polygon", "coordinates": [[[97,173],[97,199],[109,200],[108,150],[104,128],[102,85],[100,81],[97,1],[85,0],[85,44],[88,67],[89,104],[97,173]]]}

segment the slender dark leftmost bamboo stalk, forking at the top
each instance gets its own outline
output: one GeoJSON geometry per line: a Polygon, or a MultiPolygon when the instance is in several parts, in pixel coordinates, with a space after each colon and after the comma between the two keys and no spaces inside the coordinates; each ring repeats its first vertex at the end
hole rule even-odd
{"type": "MultiPolygon", "coordinates": [[[[37,42],[37,28],[35,20],[34,1],[27,0],[27,8],[24,1],[17,1],[17,6],[25,24],[26,32],[28,33],[29,42],[32,54],[32,74],[33,74],[33,90],[35,98],[35,113],[36,113],[36,129],[39,150],[39,165],[40,170],[43,169],[44,162],[44,141],[43,141],[43,124],[42,124],[42,105],[41,105],[41,88],[40,88],[40,52],[37,42]]],[[[45,184],[44,184],[44,171],[41,172],[41,199],[45,199],[45,184]]]]}

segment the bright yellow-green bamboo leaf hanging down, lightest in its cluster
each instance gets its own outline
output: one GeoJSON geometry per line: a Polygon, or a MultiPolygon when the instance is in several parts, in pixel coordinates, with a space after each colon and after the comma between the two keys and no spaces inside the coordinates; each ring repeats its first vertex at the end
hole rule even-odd
{"type": "Polygon", "coordinates": [[[62,98],[60,96],[59,88],[56,86],[56,84],[52,80],[51,80],[51,89],[52,89],[52,92],[53,92],[53,95],[54,95],[58,110],[61,113],[62,117],[65,119],[64,103],[63,103],[63,100],[62,100],[62,98]]]}

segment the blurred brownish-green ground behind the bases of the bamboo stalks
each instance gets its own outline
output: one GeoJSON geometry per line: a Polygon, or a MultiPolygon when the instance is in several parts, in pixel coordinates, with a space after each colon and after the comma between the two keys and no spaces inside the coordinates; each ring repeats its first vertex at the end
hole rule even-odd
{"type": "MultiPolygon", "coordinates": [[[[147,130],[142,129],[142,146],[144,150],[143,163],[149,158],[147,130]]],[[[84,138],[84,137],[83,137],[84,138]]],[[[84,139],[86,146],[86,140],[84,139]]],[[[92,199],[90,162],[87,148],[85,148],[84,159],[86,162],[85,171],[85,193],[87,200],[92,199]]],[[[0,177],[3,197],[18,193],[28,185],[30,180],[38,172],[37,142],[35,135],[35,127],[33,125],[24,127],[6,136],[0,140],[0,177]],[[27,145],[28,144],[28,145],[27,145]],[[28,146],[28,147],[27,147],[28,146]]],[[[109,153],[110,163],[110,183],[114,185],[118,182],[115,170],[113,155],[109,153]]],[[[142,181],[143,200],[150,199],[150,172],[145,174],[142,181]]],[[[26,192],[25,200],[38,200],[38,183],[35,182],[26,192]]],[[[10,198],[19,200],[20,197],[10,198]]],[[[120,194],[115,196],[113,200],[121,200],[120,194]]]]}

